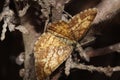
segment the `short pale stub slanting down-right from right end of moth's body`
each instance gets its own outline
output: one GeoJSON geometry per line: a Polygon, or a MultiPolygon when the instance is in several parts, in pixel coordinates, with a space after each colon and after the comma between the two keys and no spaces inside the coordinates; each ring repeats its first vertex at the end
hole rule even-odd
{"type": "Polygon", "coordinates": [[[79,52],[80,56],[83,59],[85,59],[88,62],[90,61],[89,57],[86,55],[86,50],[84,50],[79,43],[76,45],[76,50],[79,52]]]}

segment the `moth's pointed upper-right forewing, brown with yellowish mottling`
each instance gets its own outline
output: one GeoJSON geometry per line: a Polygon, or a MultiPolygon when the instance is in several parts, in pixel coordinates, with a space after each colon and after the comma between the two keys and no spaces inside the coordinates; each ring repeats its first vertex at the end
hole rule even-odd
{"type": "Polygon", "coordinates": [[[97,14],[96,8],[88,9],[73,16],[68,25],[71,28],[71,34],[75,41],[82,39],[90,28],[90,24],[97,14]]]}

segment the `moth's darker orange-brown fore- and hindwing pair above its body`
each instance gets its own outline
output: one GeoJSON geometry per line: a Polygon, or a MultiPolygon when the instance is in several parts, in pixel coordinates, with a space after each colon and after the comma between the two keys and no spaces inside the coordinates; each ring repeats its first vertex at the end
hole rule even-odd
{"type": "Polygon", "coordinates": [[[73,16],[69,22],[57,21],[48,26],[47,31],[57,33],[57,36],[78,41],[86,34],[90,24],[97,14],[96,8],[88,9],[73,16]]]}

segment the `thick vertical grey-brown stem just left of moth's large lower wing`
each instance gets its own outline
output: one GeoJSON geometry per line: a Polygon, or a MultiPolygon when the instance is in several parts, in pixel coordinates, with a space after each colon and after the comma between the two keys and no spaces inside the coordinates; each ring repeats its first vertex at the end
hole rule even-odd
{"type": "Polygon", "coordinates": [[[29,34],[23,34],[23,40],[25,45],[24,80],[36,80],[33,47],[34,47],[35,41],[37,40],[38,33],[34,30],[34,27],[30,25],[30,23],[25,23],[24,26],[29,31],[29,34]]]}

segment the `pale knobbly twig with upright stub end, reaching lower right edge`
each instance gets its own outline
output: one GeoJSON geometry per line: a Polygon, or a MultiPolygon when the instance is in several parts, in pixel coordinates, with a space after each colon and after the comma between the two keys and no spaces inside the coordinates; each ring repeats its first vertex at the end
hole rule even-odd
{"type": "Polygon", "coordinates": [[[77,69],[82,69],[82,70],[88,70],[90,72],[92,71],[98,71],[98,72],[103,72],[107,76],[111,76],[113,72],[115,71],[120,71],[120,66],[116,67],[95,67],[93,65],[85,65],[82,63],[75,63],[72,61],[72,58],[70,57],[66,61],[66,67],[65,67],[65,73],[66,75],[69,75],[70,69],[77,68],[77,69]]]}

